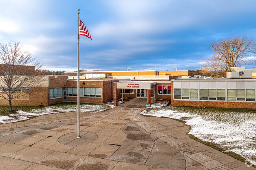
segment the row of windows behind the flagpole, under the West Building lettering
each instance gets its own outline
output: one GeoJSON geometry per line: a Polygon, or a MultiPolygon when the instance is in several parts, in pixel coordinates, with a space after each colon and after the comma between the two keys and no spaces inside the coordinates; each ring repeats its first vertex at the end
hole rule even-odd
{"type": "MultiPolygon", "coordinates": [[[[77,88],[67,88],[68,96],[77,96],[77,88]]],[[[101,88],[80,88],[79,94],[81,97],[101,97],[101,88]]]]}

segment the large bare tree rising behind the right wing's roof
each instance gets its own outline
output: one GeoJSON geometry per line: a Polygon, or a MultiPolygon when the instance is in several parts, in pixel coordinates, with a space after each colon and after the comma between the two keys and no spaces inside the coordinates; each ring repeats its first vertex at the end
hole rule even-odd
{"type": "Polygon", "coordinates": [[[253,62],[251,57],[254,50],[254,42],[247,37],[233,37],[221,39],[210,45],[214,52],[206,62],[200,66],[203,75],[210,74],[211,77],[226,77],[226,72],[231,71],[230,67],[242,66],[253,62]]]}

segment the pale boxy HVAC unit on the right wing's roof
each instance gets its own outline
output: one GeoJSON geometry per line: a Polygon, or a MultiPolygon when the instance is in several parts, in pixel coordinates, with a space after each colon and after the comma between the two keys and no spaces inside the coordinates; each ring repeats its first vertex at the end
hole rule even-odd
{"type": "Polygon", "coordinates": [[[230,67],[230,70],[232,72],[226,74],[228,79],[252,78],[252,72],[245,72],[245,67],[230,67]]]}

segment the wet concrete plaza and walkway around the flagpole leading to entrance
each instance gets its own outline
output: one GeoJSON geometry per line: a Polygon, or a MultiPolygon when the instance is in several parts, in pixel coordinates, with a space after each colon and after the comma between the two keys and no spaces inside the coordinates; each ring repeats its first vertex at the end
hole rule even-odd
{"type": "Polygon", "coordinates": [[[83,140],[91,140],[82,145],[61,144],[63,135],[71,139],[67,133],[76,132],[76,112],[0,124],[0,169],[255,170],[190,139],[182,122],[139,115],[145,103],[132,99],[105,112],[81,113],[81,134],[89,135],[83,140]]]}

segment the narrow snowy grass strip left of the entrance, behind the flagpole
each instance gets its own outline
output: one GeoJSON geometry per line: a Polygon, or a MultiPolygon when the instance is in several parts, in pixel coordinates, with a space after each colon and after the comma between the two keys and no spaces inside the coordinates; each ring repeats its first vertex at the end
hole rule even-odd
{"type": "MultiPolygon", "coordinates": [[[[80,104],[80,112],[102,112],[104,110],[113,108],[115,106],[110,104],[80,104]]],[[[0,123],[10,123],[29,119],[28,117],[46,115],[50,113],[61,113],[61,112],[76,112],[77,106],[75,104],[66,104],[61,106],[46,106],[42,109],[32,109],[24,112],[18,110],[17,113],[10,114],[10,116],[0,116],[0,123]]]]}

